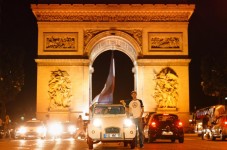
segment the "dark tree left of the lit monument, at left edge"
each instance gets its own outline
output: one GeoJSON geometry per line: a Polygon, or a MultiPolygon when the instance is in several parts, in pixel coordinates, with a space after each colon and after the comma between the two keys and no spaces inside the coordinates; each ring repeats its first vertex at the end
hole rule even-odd
{"type": "Polygon", "coordinates": [[[4,103],[15,100],[24,85],[23,51],[14,46],[0,51],[0,100],[4,103]],[[15,53],[16,52],[16,53],[15,53]]]}

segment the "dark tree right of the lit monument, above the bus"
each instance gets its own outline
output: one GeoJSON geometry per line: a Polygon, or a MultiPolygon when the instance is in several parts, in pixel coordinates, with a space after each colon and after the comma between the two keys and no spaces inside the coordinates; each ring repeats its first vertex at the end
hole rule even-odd
{"type": "Polygon", "coordinates": [[[227,53],[208,54],[201,61],[201,86],[204,94],[223,98],[227,95],[227,53]]]}

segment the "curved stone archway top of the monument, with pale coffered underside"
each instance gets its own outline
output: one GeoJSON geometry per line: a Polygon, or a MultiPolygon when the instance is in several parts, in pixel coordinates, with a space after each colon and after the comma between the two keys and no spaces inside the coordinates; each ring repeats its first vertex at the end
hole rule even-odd
{"type": "Polygon", "coordinates": [[[107,50],[119,50],[136,63],[141,47],[137,41],[122,31],[104,31],[94,36],[87,44],[85,53],[88,54],[91,65],[96,57],[107,50]]]}

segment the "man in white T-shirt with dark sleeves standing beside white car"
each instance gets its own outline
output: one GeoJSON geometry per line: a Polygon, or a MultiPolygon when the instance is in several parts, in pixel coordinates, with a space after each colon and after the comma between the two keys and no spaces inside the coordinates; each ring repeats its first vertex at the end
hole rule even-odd
{"type": "MultiPolygon", "coordinates": [[[[136,128],[138,128],[140,148],[144,148],[143,121],[142,121],[142,116],[144,113],[143,101],[140,99],[137,99],[136,91],[131,92],[131,97],[132,97],[132,100],[129,103],[129,114],[130,116],[132,116],[134,123],[136,125],[136,128]]],[[[137,138],[135,142],[137,144],[137,138]]]]}

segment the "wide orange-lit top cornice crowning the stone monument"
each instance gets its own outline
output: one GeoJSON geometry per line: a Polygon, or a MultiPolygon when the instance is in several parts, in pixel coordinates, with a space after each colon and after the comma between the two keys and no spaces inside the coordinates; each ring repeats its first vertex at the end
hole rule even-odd
{"type": "Polygon", "coordinates": [[[40,22],[188,22],[194,4],[32,4],[40,22]]]}

